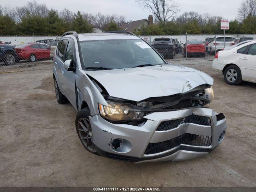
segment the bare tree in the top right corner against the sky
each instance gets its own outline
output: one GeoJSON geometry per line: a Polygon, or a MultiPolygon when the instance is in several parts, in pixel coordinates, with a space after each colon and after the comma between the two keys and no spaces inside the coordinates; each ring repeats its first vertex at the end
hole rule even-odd
{"type": "Polygon", "coordinates": [[[238,16],[241,21],[248,16],[256,16],[256,0],[244,0],[238,8],[238,16]]]}

